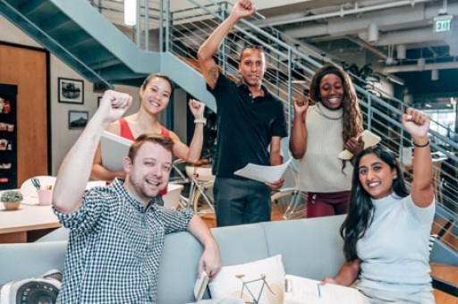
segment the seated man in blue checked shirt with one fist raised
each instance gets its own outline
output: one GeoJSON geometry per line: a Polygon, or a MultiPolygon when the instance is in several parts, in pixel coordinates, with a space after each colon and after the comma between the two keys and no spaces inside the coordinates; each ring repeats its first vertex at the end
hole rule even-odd
{"type": "Polygon", "coordinates": [[[71,231],[58,302],[156,303],[166,233],[187,229],[202,243],[199,273],[212,277],[221,267],[216,241],[198,215],[154,203],[172,169],[171,139],[141,135],[123,160],[125,181],[85,192],[102,131],[129,106],[129,95],[106,91],[57,175],[53,207],[71,231]]]}

